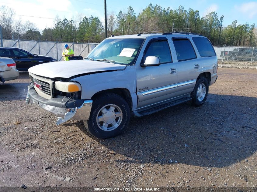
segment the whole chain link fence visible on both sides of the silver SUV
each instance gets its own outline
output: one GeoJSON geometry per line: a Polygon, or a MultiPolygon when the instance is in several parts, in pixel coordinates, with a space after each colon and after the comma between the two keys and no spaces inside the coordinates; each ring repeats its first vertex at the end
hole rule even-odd
{"type": "MultiPolygon", "coordinates": [[[[17,39],[3,39],[4,47],[24,49],[32,54],[50,56],[63,60],[64,45],[74,50],[75,56],[85,58],[98,43],[50,42],[17,39]]],[[[257,47],[214,46],[219,67],[257,69],[257,47]]]]}

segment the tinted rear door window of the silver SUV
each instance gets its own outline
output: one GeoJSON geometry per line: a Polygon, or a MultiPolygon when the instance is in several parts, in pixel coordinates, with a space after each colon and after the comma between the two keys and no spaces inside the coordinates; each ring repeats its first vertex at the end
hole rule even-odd
{"type": "Polygon", "coordinates": [[[172,39],[178,61],[196,59],[195,50],[189,39],[172,39]]]}

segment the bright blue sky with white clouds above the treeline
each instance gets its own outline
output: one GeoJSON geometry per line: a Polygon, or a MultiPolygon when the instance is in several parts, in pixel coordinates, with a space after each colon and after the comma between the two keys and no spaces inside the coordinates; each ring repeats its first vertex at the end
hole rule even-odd
{"type": "MultiPolygon", "coordinates": [[[[136,14],[140,13],[149,3],[152,5],[160,4],[162,8],[178,8],[182,5],[185,9],[192,8],[199,10],[200,16],[208,12],[215,11],[220,18],[224,15],[224,26],[237,20],[237,24],[257,25],[257,0],[106,0],[107,12],[114,12],[115,15],[121,10],[126,12],[127,7],[131,5],[136,14]]],[[[0,6],[6,5],[15,10],[16,19],[23,21],[29,20],[36,24],[41,31],[46,27],[53,27],[54,18],[58,15],[60,19],[73,19],[78,13],[89,17],[90,15],[98,16],[104,24],[104,0],[0,0],[0,6]]],[[[1,14],[1,13],[0,13],[1,14]]]]}

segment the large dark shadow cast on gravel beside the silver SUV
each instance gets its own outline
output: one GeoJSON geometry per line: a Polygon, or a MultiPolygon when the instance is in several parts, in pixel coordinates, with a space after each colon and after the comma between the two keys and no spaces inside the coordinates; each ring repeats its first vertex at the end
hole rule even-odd
{"type": "MultiPolygon", "coordinates": [[[[209,94],[206,103],[183,103],[130,119],[122,135],[97,142],[125,158],[116,163],[185,163],[225,167],[257,150],[257,98],[209,94]]],[[[86,132],[83,123],[78,127],[86,132]]]]}

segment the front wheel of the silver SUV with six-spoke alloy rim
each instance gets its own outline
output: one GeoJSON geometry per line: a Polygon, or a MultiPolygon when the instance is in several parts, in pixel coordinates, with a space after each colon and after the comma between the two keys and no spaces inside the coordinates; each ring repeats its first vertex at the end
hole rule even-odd
{"type": "Polygon", "coordinates": [[[130,108],[125,99],[106,93],[93,99],[89,120],[84,121],[84,125],[93,136],[105,139],[119,135],[129,120],[130,108]]]}

